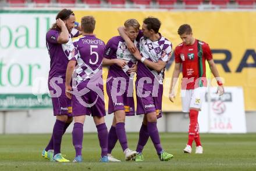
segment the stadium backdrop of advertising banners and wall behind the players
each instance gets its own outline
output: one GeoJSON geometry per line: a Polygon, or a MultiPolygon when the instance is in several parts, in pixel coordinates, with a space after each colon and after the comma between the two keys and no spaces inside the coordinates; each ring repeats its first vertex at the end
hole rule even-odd
{"type": "MultiPolygon", "coordinates": [[[[2,125],[0,133],[52,131],[54,118],[51,99],[47,96],[49,57],[45,47],[45,33],[54,23],[58,10],[62,8],[71,8],[77,21],[80,21],[82,16],[93,15],[97,21],[95,34],[105,42],[118,35],[117,27],[122,26],[125,20],[135,18],[142,23],[145,17],[155,16],[162,21],[161,34],[168,38],[175,48],[181,42],[177,28],[183,23],[191,24],[194,37],[209,43],[221,77],[225,79],[225,87],[243,88],[243,97],[236,97],[236,93],[233,93],[234,99],[241,99],[239,104],[234,104],[234,107],[243,106],[244,103],[247,132],[256,132],[253,123],[256,119],[254,74],[256,25],[253,24],[256,23],[255,4],[253,1],[252,4],[245,5],[239,5],[239,1],[225,1],[225,3],[222,1],[221,5],[214,5],[214,2],[210,1],[198,2],[200,5],[187,1],[177,1],[171,5],[159,5],[158,1],[150,1],[140,5],[133,1],[125,1],[125,5],[116,6],[100,1],[97,6],[83,1],[74,4],[66,4],[65,1],[63,4],[62,1],[44,4],[35,1],[24,1],[24,3],[2,1],[0,3],[0,123],[2,125]],[[40,97],[40,94],[42,101],[38,103],[37,97],[40,97]]],[[[172,63],[173,61],[170,61],[165,72],[162,109],[164,115],[159,119],[159,130],[186,132],[189,119],[181,112],[180,97],[177,96],[174,104],[168,100],[172,63]]],[[[106,77],[106,68],[104,72],[106,77]]],[[[212,81],[211,89],[214,89],[214,86],[216,83],[212,81]]],[[[108,104],[107,97],[105,102],[108,104]]],[[[236,112],[236,108],[233,111],[236,112]]],[[[140,129],[141,119],[141,116],[127,118],[126,130],[137,132],[140,129]]],[[[111,120],[112,115],[106,117],[108,128],[111,126],[111,120]]],[[[67,132],[71,129],[70,127],[67,132]]],[[[84,132],[95,131],[94,123],[88,117],[84,132]]]]}

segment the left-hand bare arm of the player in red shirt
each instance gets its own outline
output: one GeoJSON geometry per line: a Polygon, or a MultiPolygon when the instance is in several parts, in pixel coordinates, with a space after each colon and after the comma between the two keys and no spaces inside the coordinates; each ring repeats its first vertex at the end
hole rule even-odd
{"type": "Polygon", "coordinates": [[[172,80],[170,82],[169,100],[172,101],[172,103],[175,100],[175,85],[177,83],[177,79],[179,79],[180,66],[181,66],[181,63],[175,63],[175,67],[172,74],[172,80]]]}

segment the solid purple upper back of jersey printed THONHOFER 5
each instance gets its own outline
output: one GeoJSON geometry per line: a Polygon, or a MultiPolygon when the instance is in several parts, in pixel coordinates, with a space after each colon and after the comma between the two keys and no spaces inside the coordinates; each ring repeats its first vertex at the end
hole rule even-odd
{"type": "Polygon", "coordinates": [[[95,35],[86,35],[75,41],[74,46],[80,58],[77,60],[78,64],[83,60],[83,63],[93,71],[102,66],[105,43],[101,39],[96,38],[95,35]]]}

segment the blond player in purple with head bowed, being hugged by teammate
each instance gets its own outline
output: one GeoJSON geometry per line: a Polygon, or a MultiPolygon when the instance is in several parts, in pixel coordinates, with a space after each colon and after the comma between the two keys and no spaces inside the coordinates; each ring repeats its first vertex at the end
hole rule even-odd
{"type": "MultiPolygon", "coordinates": [[[[125,21],[125,32],[135,45],[139,30],[140,24],[137,20],[125,21]]],[[[125,132],[125,117],[134,115],[133,78],[137,71],[136,63],[136,58],[127,49],[122,37],[112,37],[106,43],[103,65],[110,66],[106,82],[106,92],[109,97],[108,113],[114,113],[108,134],[108,159],[112,162],[119,162],[111,155],[117,140],[122,146],[127,161],[136,155],[136,151],[128,148],[125,132]]]]}

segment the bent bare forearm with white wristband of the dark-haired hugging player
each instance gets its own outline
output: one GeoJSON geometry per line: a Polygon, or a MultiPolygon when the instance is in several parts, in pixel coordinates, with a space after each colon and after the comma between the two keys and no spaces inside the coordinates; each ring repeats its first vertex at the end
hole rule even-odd
{"type": "Polygon", "coordinates": [[[162,60],[158,60],[157,63],[147,60],[140,55],[140,52],[138,50],[136,50],[136,52],[133,53],[133,55],[134,57],[136,57],[137,60],[142,61],[145,64],[145,66],[150,67],[157,72],[161,72],[167,64],[165,61],[162,60]]]}

